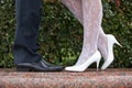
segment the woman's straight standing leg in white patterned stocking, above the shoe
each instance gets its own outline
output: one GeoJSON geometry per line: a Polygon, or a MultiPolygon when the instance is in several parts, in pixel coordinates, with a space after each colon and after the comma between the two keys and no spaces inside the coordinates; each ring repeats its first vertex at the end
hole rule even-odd
{"type": "Polygon", "coordinates": [[[80,65],[97,51],[101,9],[99,0],[82,0],[84,45],[76,65],[80,65]]]}

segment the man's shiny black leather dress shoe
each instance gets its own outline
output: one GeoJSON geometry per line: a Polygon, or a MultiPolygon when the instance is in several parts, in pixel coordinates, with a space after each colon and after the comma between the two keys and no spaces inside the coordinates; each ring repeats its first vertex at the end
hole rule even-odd
{"type": "Polygon", "coordinates": [[[41,61],[38,63],[16,64],[18,72],[61,72],[63,69],[63,66],[53,66],[45,61],[41,61]]]}

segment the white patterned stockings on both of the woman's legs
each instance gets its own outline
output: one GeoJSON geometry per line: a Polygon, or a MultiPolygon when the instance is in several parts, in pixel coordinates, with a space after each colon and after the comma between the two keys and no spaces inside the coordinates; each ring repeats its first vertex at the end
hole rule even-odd
{"type": "Polygon", "coordinates": [[[90,57],[97,51],[97,44],[102,56],[107,58],[107,37],[101,28],[101,0],[62,0],[62,2],[84,25],[84,45],[76,65],[80,65],[90,57]]]}

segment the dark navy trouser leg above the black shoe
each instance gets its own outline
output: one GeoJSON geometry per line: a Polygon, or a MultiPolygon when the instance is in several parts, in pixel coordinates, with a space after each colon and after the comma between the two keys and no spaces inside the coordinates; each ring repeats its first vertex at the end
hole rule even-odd
{"type": "Polygon", "coordinates": [[[16,31],[14,41],[14,63],[41,61],[36,53],[37,31],[41,21],[42,0],[15,0],[16,31]]]}

